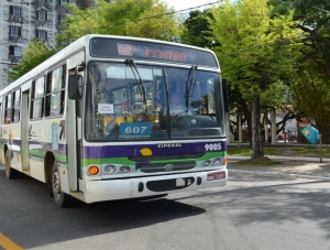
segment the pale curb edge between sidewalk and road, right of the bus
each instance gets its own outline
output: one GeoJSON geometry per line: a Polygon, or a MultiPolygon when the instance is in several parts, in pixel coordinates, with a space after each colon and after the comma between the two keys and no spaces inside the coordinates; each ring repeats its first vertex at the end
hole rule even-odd
{"type": "Polygon", "coordinates": [[[304,174],[284,174],[278,172],[263,172],[263,171],[245,171],[245,170],[228,170],[231,174],[242,174],[242,175],[256,175],[256,176],[271,176],[279,178],[308,178],[308,180],[319,180],[324,182],[330,182],[330,177],[326,176],[311,176],[304,174]]]}

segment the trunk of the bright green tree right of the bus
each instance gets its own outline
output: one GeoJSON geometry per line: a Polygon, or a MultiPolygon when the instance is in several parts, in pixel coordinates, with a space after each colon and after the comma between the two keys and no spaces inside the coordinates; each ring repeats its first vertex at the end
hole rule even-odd
{"type": "Polygon", "coordinates": [[[252,124],[252,160],[264,156],[263,139],[261,133],[260,122],[260,97],[251,101],[251,124],[252,124]]]}

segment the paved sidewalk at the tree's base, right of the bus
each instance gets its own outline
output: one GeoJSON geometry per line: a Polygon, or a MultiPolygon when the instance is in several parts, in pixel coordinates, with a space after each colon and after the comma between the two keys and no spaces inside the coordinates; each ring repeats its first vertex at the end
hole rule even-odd
{"type": "Polygon", "coordinates": [[[320,163],[319,157],[266,156],[280,161],[282,164],[268,166],[238,165],[235,164],[238,160],[249,159],[249,156],[228,155],[229,176],[231,174],[243,174],[330,182],[330,159],[322,159],[322,163],[320,163]]]}

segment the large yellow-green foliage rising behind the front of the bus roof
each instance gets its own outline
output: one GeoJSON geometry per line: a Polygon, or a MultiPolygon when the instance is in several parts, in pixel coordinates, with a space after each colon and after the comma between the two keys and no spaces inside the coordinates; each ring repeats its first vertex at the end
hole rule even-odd
{"type": "MultiPolygon", "coordinates": [[[[86,34],[109,34],[177,41],[183,31],[179,20],[157,0],[97,0],[96,9],[80,10],[68,4],[70,15],[56,37],[68,44],[86,34]]],[[[172,10],[173,11],[173,10],[172,10]]]]}

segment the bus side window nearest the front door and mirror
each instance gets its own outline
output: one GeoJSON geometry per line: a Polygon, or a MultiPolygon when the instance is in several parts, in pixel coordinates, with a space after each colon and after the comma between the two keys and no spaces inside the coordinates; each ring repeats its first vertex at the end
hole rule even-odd
{"type": "Polygon", "coordinates": [[[66,66],[59,66],[47,76],[46,117],[61,116],[64,112],[66,66]]]}

